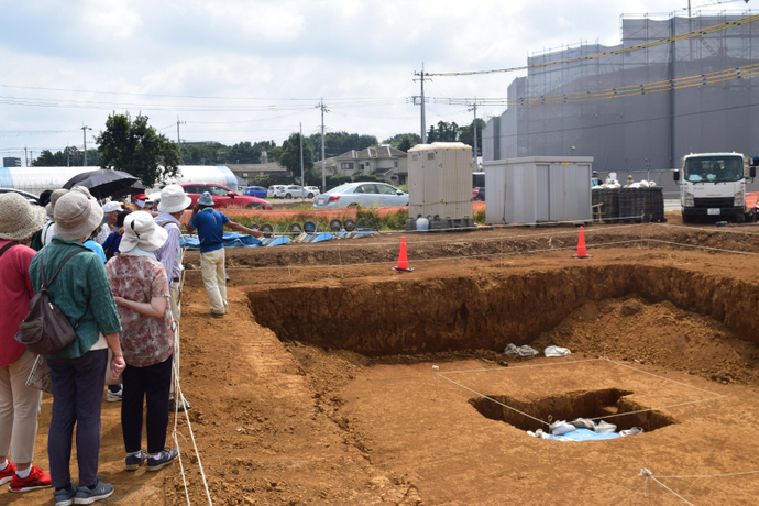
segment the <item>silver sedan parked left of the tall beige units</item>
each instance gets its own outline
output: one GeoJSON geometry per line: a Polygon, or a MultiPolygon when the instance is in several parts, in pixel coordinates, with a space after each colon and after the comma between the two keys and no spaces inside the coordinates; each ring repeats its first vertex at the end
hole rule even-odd
{"type": "Polygon", "coordinates": [[[315,209],[408,206],[408,194],[386,183],[346,183],[314,199],[315,209]]]}

